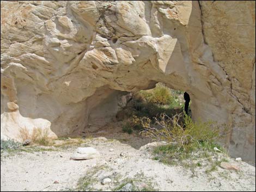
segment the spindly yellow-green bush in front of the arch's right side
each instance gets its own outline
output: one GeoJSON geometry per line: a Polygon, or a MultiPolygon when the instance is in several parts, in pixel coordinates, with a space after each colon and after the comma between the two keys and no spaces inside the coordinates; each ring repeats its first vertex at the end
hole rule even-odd
{"type": "Polygon", "coordinates": [[[154,141],[166,141],[169,145],[156,148],[155,153],[164,154],[164,158],[185,158],[188,153],[195,150],[213,150],[221,147],[215,142],[223,137],[221,131],[227,131],[216,122],[200,120],[193,122],[184,114],[169,117],[161,114],[154,117],[154,122],[149,117],[135,117],[135,122],[141,123],[144,128],[139,134],[149,137],[154,141]],[[165,154],[168,154],[165,156],[165,154]]]}

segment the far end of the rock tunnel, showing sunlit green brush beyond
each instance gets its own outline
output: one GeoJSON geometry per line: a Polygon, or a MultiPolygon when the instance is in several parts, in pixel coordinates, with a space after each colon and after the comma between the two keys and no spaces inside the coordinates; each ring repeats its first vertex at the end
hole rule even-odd
{"type": "Polygon", "coordinates": [[[191,101],[187,92],[170,89],[166,84],[157,83],[155,88],[131,92],[121,96],[125,106],[120,107],[116,119],[122,121],[131,116],[147,116],[150,119],[162,113],[168,116],[187,114],[191,117],[191,101]]]}

